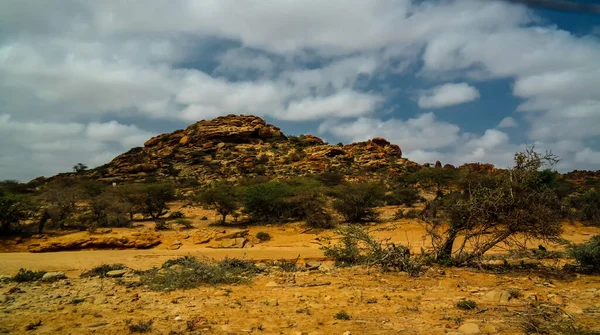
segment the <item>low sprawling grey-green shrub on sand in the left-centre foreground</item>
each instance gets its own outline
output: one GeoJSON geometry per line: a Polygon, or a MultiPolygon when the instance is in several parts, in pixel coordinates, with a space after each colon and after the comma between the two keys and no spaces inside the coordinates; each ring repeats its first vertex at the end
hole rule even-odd
{"type": "Polygon", "coordinates": [[[142,272],[140,283],[155,291],[185,290],[202,284],[242,283],[258,272],[253,263],[243,260],[226,259],[215,263],[201,262],[194,257],[185,256],[168,260],[161,269],[154,268],[142,272]]]}

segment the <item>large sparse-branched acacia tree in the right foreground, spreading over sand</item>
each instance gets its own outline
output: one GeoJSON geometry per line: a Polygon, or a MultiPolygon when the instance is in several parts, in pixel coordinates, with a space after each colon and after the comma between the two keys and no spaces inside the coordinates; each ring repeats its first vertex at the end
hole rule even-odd
{"type": "Polygon", "coordinates": [[[498,178],[496,187],[468,186],[442,206],[442,219],[424,213],[435,257],[462,264],[480,258],[494,246],[518,243],[516,236],[553,239],[560,235],[560,202],[538,171],[558,160],[531,149],[515,154],[515,165],[498,178]],[[460,243],[456,243],[460,241],[460,243]]]}

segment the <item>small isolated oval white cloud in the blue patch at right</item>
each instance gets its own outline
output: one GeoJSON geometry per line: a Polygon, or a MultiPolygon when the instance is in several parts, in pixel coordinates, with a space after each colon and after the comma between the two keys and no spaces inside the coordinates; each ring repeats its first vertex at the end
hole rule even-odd
{"type": "Polygon", "coordinates": [[[479,91],[467,83],[449,83],[423,91],[419,97],[421,108],[442,108],[479,99],[479,91]]]}

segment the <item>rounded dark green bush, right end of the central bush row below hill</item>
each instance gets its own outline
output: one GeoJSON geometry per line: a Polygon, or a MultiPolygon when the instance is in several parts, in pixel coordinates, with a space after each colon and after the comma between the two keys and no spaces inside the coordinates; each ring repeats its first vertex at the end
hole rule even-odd
{"type": "Polygon", "coordinates": [[[378,183],[347,183],[338,186],[333,208],[348,222],[375,220],[374,208],[383,204],[385,190],[378,183]]]}

